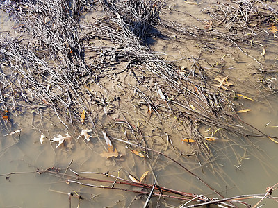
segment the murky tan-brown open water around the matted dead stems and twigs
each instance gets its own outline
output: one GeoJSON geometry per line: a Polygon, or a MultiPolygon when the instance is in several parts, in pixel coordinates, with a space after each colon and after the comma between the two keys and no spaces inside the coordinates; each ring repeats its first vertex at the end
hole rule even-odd
{"type": "MultiPolygon", "coordinates": [[[[185,16],[182,13],[186,11],[198,19],[208,19],[200,11],[208,6],[211,1],[199,3],[202,3],[202,5],[196,6],[183,1],[169,1],[167,6],[174,8],[175,11],[167,10],[165,7],[162,15],[164,15],[164,18],[168,17],[179,21],[181,24],[188,24],[188,21],[192,21],[192,24],[196,24],[196,26],[204,26],[195,18],[185,16]]],[[[1,30],[13,31],[11,26],[13,26],[13,22],[8,21],[6,16],[1,14],[1,30]]],[[[270,40],[265,40],[263,44],[267,46],[265,62],[275,64],[275,57],[278,53],[275,42],[272,42],[270,38],[270,40]]],[[[167,40],[156,40],[152,48],[154,51],[166,53],[165,58],[169,60],[188,57],[190,56],[188,53],[192,55],[199,54],[199,49],[193,41],[189,41],[188,44],[178,44],[167,40]]],[[[261,84],[257,77],[250,77],[250,65],[254,63],[249,57],[240,53],[236,47],[229,50],[231,56],[228,55],[224,58],[226,61],[225,67],[232,67],[232,69],[225,71],[229,75],[231,83],[234,83],[232,88],[234,92],[230,91],[229,93],[234,96],[236,92],[238,94],[247,92],[248,95],[253,95],[252,98],[254,99],[254,101],[249,101],[239,97],[237,101],[234,101],[235,105],[238,106],[236,110],[251,109],[250,112],[239,114],[240,119],[250,123],[267,135],[278,136],[277,96],[269,95],[266,90],[268,85],[261,84]]],[[[219,61],[225,54],[227,53],[216,51],[210,56],[206,53],[203,55],[208,62],[213,63],[219,61]]],[[[259,57],[259,51],[252,51],[252,54],[259,57]]],[[[186,63],[181,61],[179,64],[186,63]]],[[[273,85],[277,84],[275,76],[271,74],[267,77],[267,80],[273,85]]],[[[92,189],[72,183],[66,184],[57,177],[40,175],[35,172],[37,168],[45,169],[55,166],[63,168],[60,170],[63,173],[70,161],[73,160],[70,167],[75,171],[110,171],[111,174],[117,175],[117,171],[122,168],[120,177],[128,179],[123,169],[140,177],[145,171],[150,171],[147,159],[142,160],[140,157],[132,155],[122,144],[117,143],[115,143],[115,147],[122,154],[122,157],[119,159],[105,159],[99,155],[104,147],[97,137],[91,137],[90,142],[86,143],[83,139],[76,139],[77,133],[76,135],[71,133],[74,138],[72,148],[55,148],[56,145],[51,143],[49,139],[59,133],[61,135],[67,133],[58,119],[52,117],[41,119],[40,115],[33,114],[31,110],[26,110],[24,116],[14,116],[13,120],[17,124],[17,128],[13,130],[22,129],[22,132],[9,136],[4,136],[7,132],[3,132],[0,136],[0,175],[15,173],[0,177],[0,207],[69,207],[69,196],[67,194],[70,192],[79,193],[85,198],[85,200],[72,198],[72,207],[142,207],[144,205],[145,198],[140,199],[140,196],[133,193],[92,189]],[[47,137],[42,144],[40,144],[39,139],[40,130],[43,130],[47,137]]],[[[206,130],[208,129],[204,129],[204,131],[206,130]]],[[[112,133],[117,135],[117,132],[112,133]]],[[[173,134],[172,137],[174,136],[173,134]]],[[[266,187],[277,183],[277,144],[268,138],[241,138],[234,135],[224,135],[221,132],[218,137],[219,139],[211,144],[215,159],[211,163],[203,164],[202,168],[195,158],[181,159],[174,155],[170,149],[165,154],[169,154],[175,159],[181,159],[187,168],[210,184],[211,187],[220,191],[225,197],[265,193],[266,187]]],[[[161,138],[154,137],[154,139],[158,144],[162,142],[161,138]]],[[[181,144],[179,139],[174,141],[174,145],[180,149],[188,149],[188,152],[190,152],[190,145],[181,144]]],[[[157,157],[157,155],[152,156],[157,157]]],[[[158,157],[151,159],[150,162],[155,175],[158,175],[159,185],[213,197],[211,190],[204,187],[203,184],[185,173],[177,165],[168,162],[167,159],[158,157]]],[[[70,171],[67,171],[67,173],[70,173],[70,171]]],[[[102,179],[105,180],[106,178],[102,177],[102,179]]],[[[147,176],[147,182],[153,182],[152,176],[147,176]]],[[[259,199],[247,202],[252,202],[254,205],[257,201],[259,199]]],[[[265,203],[264,207],[277,207],[277,203],[273,200],[264,200],[263,202],[265,203]]],[[[181,203],[176,200],[161,200],[161,207],[177,207],[179,205],[181,203]]],[[[151,206],[156,207],[156,198],[152,199],[151,206]]]]}

